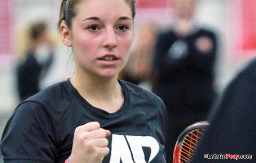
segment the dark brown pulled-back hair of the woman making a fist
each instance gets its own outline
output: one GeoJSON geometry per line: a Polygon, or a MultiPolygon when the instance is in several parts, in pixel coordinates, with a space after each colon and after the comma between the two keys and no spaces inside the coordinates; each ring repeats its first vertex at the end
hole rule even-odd
{"type": "MultiPolygon", "coordinates": [[[[58,22],[58,30],[60,31],[60,24],[62,21],[65,21],[67,24],[67,27],[71,29],[72,19],[77,16],[77,4],[81,1],[86,0],[63,0],[60,5],[60,16],[59,16],[59,22],[58,22]]],[[[123,0],[125,1],[132,10],[132,18],[134,19],[136,9],[135,9],[135,3],[137,0],[123,0]]]]}

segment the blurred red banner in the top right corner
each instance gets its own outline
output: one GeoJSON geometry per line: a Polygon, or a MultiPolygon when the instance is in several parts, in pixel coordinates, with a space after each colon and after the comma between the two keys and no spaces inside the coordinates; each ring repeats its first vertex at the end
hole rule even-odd
{"type": "Polygon", "coordinates": [[[256,54],[256,3],[255,0],[232,1],[230,29],[237,57],[249,58],[256,54]]]}

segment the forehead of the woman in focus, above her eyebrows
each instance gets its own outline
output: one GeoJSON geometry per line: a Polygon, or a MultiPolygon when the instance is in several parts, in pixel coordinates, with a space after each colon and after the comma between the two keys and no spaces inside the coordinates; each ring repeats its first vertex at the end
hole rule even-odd
{"type": "Polygon", "coordinates": [[[129,16],[132,18],[131,7],[125,0],[82,0],[77,6],[77,16],[129,16]]]}

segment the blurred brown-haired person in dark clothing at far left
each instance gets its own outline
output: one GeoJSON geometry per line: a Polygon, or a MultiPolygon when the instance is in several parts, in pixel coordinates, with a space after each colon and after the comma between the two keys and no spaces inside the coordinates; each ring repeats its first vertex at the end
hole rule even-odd
{"type": "Polygon", "coordinates": [[[35,95],[40,82],[53,61],[53,44],[47,32],[46,23],[38,21],[29,27],[29,45],[26,57],[17,67],[18,93],[21,101],[35,95]]]}

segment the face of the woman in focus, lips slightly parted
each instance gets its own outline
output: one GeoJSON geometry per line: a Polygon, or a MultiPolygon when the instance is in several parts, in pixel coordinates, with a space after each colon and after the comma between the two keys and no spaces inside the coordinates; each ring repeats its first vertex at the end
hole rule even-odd
{"type": "Polygon", "coordinates": [[[133,42],[131,8],[124,0],[84,0],[77,7],[70,37],[77,73],[118,75],[133,42]]]}

